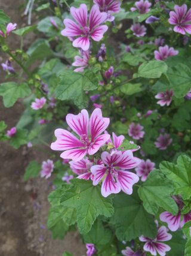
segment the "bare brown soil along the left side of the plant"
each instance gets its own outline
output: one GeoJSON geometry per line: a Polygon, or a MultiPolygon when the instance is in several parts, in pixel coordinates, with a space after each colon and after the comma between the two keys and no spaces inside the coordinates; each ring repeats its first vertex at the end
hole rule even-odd
{"type": "MultiPolygon", "coordinates": [[[[19,28],[26,23],[23,9],[19,8],[23,3],[24,0],[0,0],[0,9],[19,28]]],[[[32,38],[27,38],[27,41],[31,43],[32,38]]],[[[16,35],[10,35],[9,44],[13,49],[19,45],[16,35]]],[[[5,61],[3,55],[0,56],[2,61],[5,61]]],[[[1,83],[4,75],[1,69],[1,83]]],[[[8,128],[17,124],[22,112],[21,101],[5,109],[0,98],[0,120],[4,120],[8,128]]],[[[64,240],[51,239],[46,227],[47,195],[52,190],[50,180],[38,178],[23,182],[24,168],[32,159],[41,162],[47,159],[47,155],[26,146],[15,150],[8,143],[0,144],[0,255],[61,256],[64,251],[74,256],[85,255],[85,246],[77,233],[70,232],[64,240]]]]}

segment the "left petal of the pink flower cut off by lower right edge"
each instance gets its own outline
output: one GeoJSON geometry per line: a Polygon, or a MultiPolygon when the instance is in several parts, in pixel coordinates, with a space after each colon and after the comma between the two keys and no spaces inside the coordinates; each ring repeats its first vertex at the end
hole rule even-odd
{"type": "Polygon", "coordinates": [[[177,231],[180,227],[180,212],[178,215],[172,215],[170,212],[162,212],[160,215],[161,221],[167,222],[168,228],[171,231],[177,231]]]}

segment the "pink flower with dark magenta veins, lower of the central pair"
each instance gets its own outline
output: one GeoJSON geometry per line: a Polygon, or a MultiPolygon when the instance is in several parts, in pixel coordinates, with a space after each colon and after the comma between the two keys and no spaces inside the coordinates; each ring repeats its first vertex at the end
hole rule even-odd
{"type": "Polygon", "coordinates": [[[94,175],[93,185],[96,186],[101,179],[101,195],[107,197],[110,194],[118,194],[121,190],[131,195],[134,183],[138,182],[138,176],[130,171],[137,167],[140,159],[133,156],[131,150],[116,152],[112,156],[108,152],[101,153],[101,159],[105,165],[93,165],[91,172],[94,175]]]}

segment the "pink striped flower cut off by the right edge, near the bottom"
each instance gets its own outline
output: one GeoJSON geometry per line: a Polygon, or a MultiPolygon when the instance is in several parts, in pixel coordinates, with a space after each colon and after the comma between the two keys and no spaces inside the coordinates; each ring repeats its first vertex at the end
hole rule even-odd
{"type": "Polygon", "coordinates": [[[177,231],[178,228],[183,227],[187,221],[191,221],[191,212],[184,214],[182,221],[180,211],[177,215],[172,215],[170,212],[162,212],[159,218],[161,221],[164,221],[168,224],[168,228],[171,231],[177,231]]]}

